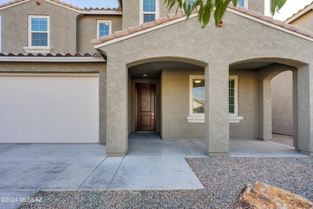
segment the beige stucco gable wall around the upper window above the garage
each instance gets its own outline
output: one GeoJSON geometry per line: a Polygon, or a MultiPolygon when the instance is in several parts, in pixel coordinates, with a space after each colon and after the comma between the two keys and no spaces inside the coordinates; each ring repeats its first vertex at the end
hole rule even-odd
{"type": "Polygon", "coordinates": [[[50,16],[51,53],[76,52],[76,17],[79,13],[44,0],[39,2],[37,5],[31,0],[0,10],[2,52],[25,52],[28,14],[50,16]]]}

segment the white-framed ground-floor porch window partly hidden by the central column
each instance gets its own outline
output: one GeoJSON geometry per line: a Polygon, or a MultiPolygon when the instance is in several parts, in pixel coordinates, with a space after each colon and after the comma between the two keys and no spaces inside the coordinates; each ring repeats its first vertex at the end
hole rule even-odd
{"type": "MultiPolygon", "coordinates": [[[[228,114],[229,122],[238,123],[244,119],[238,116],[238,76],[228,79],[228,114]]],[[[189,76],[189,122],[204,122],[205,86],[204,75],[189,76]]]]}

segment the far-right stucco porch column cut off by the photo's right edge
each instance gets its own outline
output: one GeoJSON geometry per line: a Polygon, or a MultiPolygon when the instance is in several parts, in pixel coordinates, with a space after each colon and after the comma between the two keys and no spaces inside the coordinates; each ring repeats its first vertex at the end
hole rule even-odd
{"type": "Polygon", "coordinates": [[[313,65],[298,68],[298,149],[313,156],[313,65]]]}

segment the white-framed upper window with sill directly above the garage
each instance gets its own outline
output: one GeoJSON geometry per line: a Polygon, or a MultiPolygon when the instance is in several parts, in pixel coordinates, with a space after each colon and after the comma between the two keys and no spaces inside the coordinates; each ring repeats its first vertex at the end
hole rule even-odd
{"type": "Polygon", "coordinates": [[[28,15],[28,46],[26,52],[51,51],[50,46],[50,17],[46,15],[28,15]]]}

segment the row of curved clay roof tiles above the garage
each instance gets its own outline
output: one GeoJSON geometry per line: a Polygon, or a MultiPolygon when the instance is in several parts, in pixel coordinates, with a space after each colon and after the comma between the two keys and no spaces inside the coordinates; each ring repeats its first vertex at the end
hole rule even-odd
{"type": "Polygon", "coordinates": [[[0,57],[96,57],[97,53],[5,53],[0,52],[0,57]]]}

